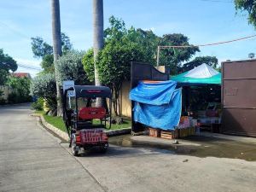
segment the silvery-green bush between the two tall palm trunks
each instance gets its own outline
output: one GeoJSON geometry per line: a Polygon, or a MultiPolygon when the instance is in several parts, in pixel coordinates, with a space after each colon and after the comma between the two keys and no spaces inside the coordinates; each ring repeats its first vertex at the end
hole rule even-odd
{"type": "Polygon", "coordinates": [[[64,80],[74,80],[75,84],[88,84],[86,73],[82,64],[84,53],[71,50],[66,55],[62,55],[57,61],[57,71],[60,82],[64,80]]]}

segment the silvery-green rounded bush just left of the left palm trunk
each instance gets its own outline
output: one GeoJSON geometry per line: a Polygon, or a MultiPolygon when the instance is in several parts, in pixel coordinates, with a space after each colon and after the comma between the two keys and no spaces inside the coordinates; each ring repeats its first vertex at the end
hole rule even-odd
{"type": "Polygon", "coordinates": [[[42,73],[32,80],[32,96],[44,98],[48,103],[50,110],[57,107],[56,81],[53,73],[42,73]]]}

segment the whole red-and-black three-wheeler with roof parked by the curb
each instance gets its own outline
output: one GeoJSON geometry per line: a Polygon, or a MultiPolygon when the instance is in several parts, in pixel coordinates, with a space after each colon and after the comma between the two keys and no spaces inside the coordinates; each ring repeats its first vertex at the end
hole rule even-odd
{"type": "Polygon", "coordinates": [[[108,136],[104,130],[111,127],[111,97],[111,90],[105,86],[74,85],[64,91],[63,119],[74,156],[78,156],[82,148],[107,151],[108,136]],[[99,99],[104,107],[96,106],[99,99]]]}

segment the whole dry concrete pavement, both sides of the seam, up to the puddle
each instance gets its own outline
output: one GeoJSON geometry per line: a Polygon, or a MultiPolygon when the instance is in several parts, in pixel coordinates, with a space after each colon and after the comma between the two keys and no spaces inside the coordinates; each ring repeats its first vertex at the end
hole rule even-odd
{"type": "Polygon", "coordinates": [[[73,158],[29,113],[0,108],[0,191],[256,191],[246,160],[114,145],[73,158]]]}

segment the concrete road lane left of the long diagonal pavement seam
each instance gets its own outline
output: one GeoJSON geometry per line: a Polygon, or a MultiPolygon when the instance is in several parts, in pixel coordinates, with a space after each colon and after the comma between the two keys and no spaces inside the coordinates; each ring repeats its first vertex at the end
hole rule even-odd
{"type": "Polygon", "coordinates": [[[0,191],[104,191],[30,113],[0,107],[0,191]]]}

